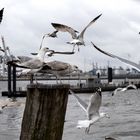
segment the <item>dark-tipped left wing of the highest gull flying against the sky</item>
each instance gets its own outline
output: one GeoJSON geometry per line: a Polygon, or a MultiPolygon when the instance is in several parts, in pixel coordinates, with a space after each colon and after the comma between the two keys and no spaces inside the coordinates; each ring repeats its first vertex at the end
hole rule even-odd
{"type": "Polygon", "coordinates": [[[57,31],[68,32],[71,34],[73,39],[77,38],[76,33],[78,33],[78,31],[74,30],[73,28],[59,23],[51,23],[51,24],[57,31]]]}

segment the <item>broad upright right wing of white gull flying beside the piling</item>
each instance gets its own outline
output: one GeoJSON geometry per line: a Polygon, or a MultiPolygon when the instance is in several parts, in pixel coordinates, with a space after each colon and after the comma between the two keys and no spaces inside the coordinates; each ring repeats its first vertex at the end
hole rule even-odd
{"type": "Polygon", "coordinates": [[[94,116],[99,115],[99,109],[102,102],[102,94],[101,91],[95,92],[89,101],[89,105],[87,108],[88,118],[91,120],[94,116]]]}

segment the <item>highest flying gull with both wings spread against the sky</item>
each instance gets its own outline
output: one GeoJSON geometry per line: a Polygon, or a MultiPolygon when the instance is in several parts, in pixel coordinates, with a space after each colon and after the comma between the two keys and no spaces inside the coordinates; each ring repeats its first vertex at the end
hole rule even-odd
{"type": "MultiPolygon", "coordinates": [[[[79,50],[79,45],[84,45],[85,46],[85,42],[84,42],[84,33],[86,31],[86,29],[91,26],[102,14],[100,14],[99,16],[97,16],[96,18],[94,18],[83,30],[82,32],[77,35],[77,32],[76,30],[74,30],[73,28],[71,27],[68,27],[66,25],[63,25],[63,24],[58,24],[58,23],[52,23],[52,26],[56,29],[55,32],[53,32],[53,37],[55,37],[56,33],[58,31],[62,31],[62,32],[68,32],[71,34],[72,36],[72,41],[71,42],[67,42],[68,44],[72,44],[73,45],[73,50],[75,49],[75,46],[77,45],[78,46],[78,50],[79,50]],[[55,35],[54,35],[55,34],[55,35]]],[[[52,34],[50,34],[50,36],[52,36],[52,34]]]]}

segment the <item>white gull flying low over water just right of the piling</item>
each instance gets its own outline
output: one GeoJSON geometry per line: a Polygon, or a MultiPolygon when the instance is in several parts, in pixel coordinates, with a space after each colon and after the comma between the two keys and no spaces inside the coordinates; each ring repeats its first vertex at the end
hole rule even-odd
{"type": "Polygon", "coordinates": [[[90,98],[89,104],[86,104],[72,90],[70,93],[77,99],[79,105],[87,114],[87,120],[79,120],[77,128],[86,128],[85,132],[89,132],[90,126],[103,117],[109,117],[106,113],[100,113],[99,109],[102,102],[101,88],[99,88],[90,98]]]}

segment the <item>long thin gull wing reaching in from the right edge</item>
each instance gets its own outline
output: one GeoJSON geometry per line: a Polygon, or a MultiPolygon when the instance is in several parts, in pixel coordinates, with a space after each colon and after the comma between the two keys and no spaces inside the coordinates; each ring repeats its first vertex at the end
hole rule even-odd
{"type": "Polygon", "coordinates": [[[98,48],[97,46],[95,46],[95,45],[93,44],[93,42],[91,42],[91,43],[92,43],[92,45],[93,45],[98,51],[100,51],[101,53],[103,53],[103,54],[105,54],[105,55],[108,55],[108,56],[110,56],[110,57],[116,58],[116,59],[118,59],[118,60],[120,60],[120,61],[122,61],[122,62],[124,62],[124,63],[126,63],[126,64],[128,64],[128,65],[130,65],[130,66],[132,66],[132,67],[134,67],[136,70],[138,70],[138,71],[140,72],[140,65],[136,64],[135,62],[132,62],[132,61],[129,61],[129,60],[127,60],[127,59],[124,59],[124,58],[121,58],[121,57],[119,57],[119,56],[116,56],[116,55],[114,55],[114,54],[105,52],[105,51],[101,50],[100,48],[98,48]]]}

